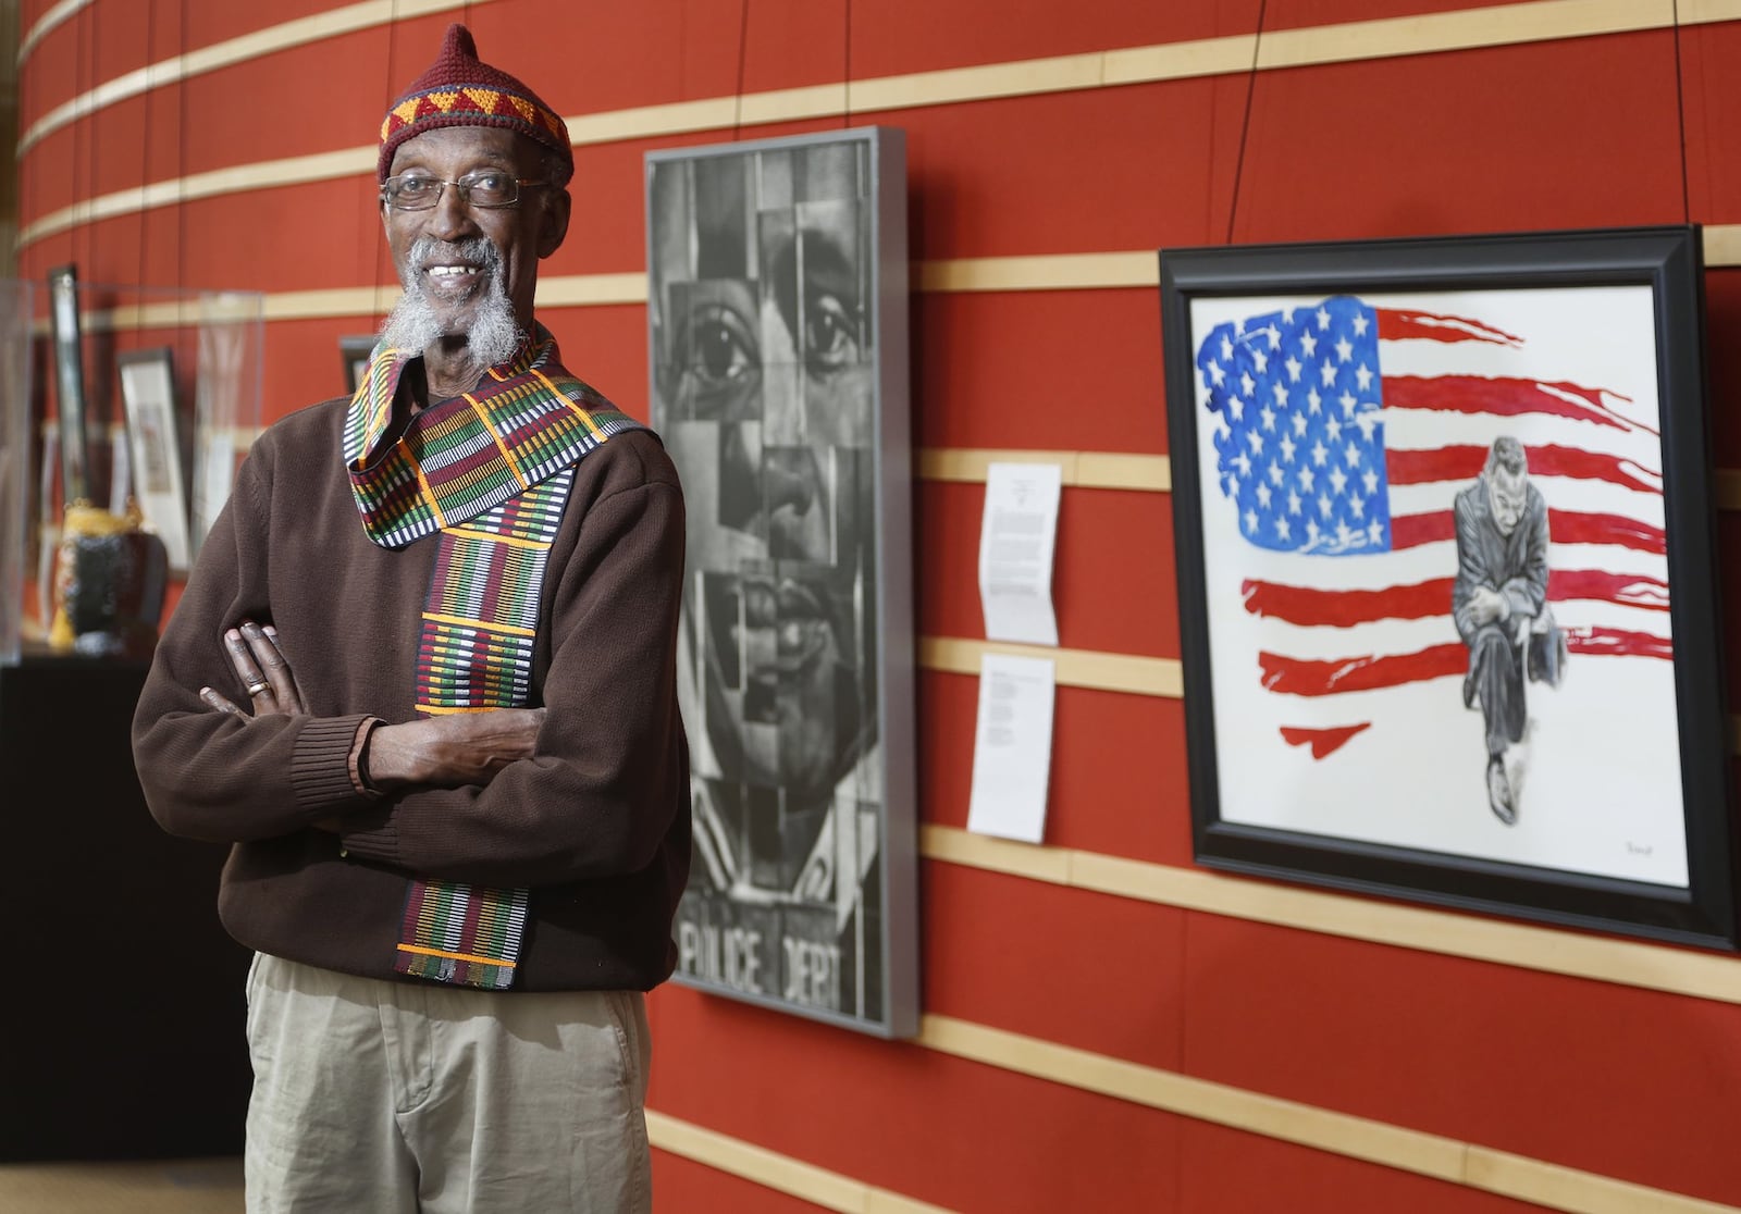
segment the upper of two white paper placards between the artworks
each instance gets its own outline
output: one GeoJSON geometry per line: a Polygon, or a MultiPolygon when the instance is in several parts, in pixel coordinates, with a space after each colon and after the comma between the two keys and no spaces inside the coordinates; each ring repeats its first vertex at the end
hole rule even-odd
{"type": "Polygon", "coordinates": [[[980,524],[980,605],[987,640],[1057,645],[1052,553],[1059,534],[1059,464],[985,466],[980,524]]]}

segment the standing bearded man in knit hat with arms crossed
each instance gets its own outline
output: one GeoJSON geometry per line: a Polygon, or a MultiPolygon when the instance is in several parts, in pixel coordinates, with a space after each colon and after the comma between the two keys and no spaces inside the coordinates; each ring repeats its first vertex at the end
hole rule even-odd
{"type": "Polygon", "coordinates": [[[353,398],[254,444],[139,699],[153,816],[233,845],[251,1211],[651,1204],[684,511],[533,320],[573,167],[451,26],[381,129],[404,297],[353,398]]]}

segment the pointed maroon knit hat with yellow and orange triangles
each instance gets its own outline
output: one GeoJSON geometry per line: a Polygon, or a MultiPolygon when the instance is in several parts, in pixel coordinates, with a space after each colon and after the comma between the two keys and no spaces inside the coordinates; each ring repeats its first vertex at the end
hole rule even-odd
{"type": "Polygon", "coordinates": [[[447,26],[435,63],[387,111],[376,176],[387,181],[399,144],[435,127],[517,130],[561,158],[562,172],[555,184],[566,186],[575,176],[575,148],[562,118],[507,71],[479,63],[472,31],[458,21],[447,26]]]}

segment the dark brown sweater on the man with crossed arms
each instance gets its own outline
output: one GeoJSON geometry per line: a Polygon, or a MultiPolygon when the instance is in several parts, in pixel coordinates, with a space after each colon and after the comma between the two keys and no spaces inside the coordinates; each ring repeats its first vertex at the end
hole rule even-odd
{"type": "MultiPolygon", "coordinates": [[[[411,720],[439,537],[362,530],[345,475],[346,400],[268,428],[237,473],[157,647],[132,724],[151,814],[233,844],[218,908],[242,944],[397,977],[407,878],[529,887],[515,991],[649,990],[670,976],[689,864],[689,760],[676,635],[684,511],[658,438],[581,459],[550,551],[533,661],[536,755],[487,786],[369,798],[350,748],[367,717],[411,720]],[[308,715],[242,720],[223,631],[277,626],[308,715]],[[339,817],[343,833],[317,828],[339,817]]],[[[416,981],[416,979],[404,979],[416,981]]]]}

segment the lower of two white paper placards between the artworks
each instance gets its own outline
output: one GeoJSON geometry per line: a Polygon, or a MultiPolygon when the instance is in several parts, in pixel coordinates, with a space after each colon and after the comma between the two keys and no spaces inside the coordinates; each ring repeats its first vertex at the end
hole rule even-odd
{"type": "Polygon", "coordinates": [[[980,657],[968,830],[1029,844],[1045,837],[1053,685],[1050,657],[980,657]]]}

